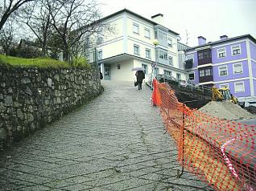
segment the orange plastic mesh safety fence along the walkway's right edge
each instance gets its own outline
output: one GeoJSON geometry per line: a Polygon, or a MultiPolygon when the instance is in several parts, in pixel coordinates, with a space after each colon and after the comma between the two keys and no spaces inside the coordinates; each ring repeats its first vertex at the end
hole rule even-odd
{"type": "Polygon", "coordinates": [[[167,83],[155,82],[153,94],[185,169],[217,190],[256,190],[255,125],[188,108],[167,83]]]}

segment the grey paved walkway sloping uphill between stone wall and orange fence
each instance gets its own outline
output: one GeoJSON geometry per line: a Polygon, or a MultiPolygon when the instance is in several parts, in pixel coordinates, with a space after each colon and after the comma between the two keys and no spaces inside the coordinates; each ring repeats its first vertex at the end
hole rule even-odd
{"type": "Polygon", "coordinates": [[[0,153],[0,190],[208,190],[190,173],[176,178],[151,90],[102,83],[96,100],[0,153]]]}

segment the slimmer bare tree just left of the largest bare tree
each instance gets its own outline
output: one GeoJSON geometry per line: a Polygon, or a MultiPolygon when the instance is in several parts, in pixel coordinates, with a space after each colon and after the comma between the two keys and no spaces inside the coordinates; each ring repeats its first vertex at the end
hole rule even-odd
{"type": "Polygon", "coordinates": [[[20,22],[25,23],[34,33],[40,47],[42,56],[47,55],[47,43],[52,30],[51,14],[47,9],[45,0],[38,0],[33,5],[23,9],[20,14],[20,22]]]}

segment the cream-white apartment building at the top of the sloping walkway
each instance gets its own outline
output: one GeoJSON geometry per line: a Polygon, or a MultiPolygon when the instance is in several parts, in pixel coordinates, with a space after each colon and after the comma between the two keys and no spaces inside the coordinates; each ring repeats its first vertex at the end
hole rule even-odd
{"type": "MultiPolygon", "coordinates": [[[[186,79],[184,67],[179,65],[179,34],[161,25],[163,14],[156,14],[152,20],[130,10],[120,10],[101,22],[114,26],[115,32],[97,45],[97,58],[104,79],[133,81],[133,67],[144,67],[146,80],[155,74],[152,63],[157,61],[158,74],[166,74],[176,79],[186,79]],[[157,39],[159,44],[154,45],[157,39]]],[[[89,60],[93,62],[93,54],[89,60]]]]}

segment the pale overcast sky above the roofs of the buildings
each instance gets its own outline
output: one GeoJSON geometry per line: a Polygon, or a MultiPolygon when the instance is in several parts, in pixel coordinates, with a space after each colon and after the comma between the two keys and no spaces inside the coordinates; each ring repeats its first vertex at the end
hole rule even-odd
{"type": "Polygon", "coordinates": [[[253,35],[256,39],[256,0],[98,0],[103,16],[124,8],[151,18],[163,14],[164,26],[180,34],[181,42],[196,46],[197,37],[207,42],[221,35],[253,35]]]}

